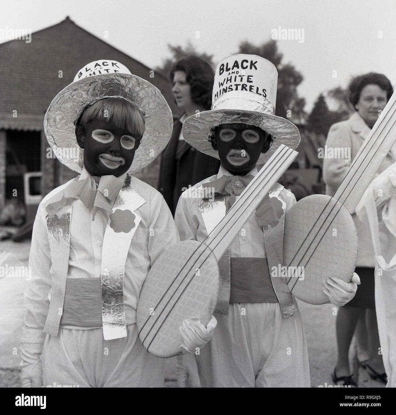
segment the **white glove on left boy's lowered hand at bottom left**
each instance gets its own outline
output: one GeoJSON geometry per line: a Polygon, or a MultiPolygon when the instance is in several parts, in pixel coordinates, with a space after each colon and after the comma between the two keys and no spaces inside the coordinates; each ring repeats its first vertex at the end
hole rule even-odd
{"type": "Polygon", "coordinates": [[[42,381],[42,365],[40,354],[42,343],[21,343],[21,386],[22,388],[40,388],[42,381]]]}

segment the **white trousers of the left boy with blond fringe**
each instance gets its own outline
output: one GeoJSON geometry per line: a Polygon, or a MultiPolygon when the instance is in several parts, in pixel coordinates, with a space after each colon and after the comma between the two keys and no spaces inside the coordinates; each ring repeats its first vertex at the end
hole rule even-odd
{"type": "Polygon", "coordinates": [[[104,340],[101,328],[60,328],[57,337],[47,336],[44,343],[44,387],[163,387],[164,359],[149,354],[137,332],[132,324],[127,337],[104,340]]]}

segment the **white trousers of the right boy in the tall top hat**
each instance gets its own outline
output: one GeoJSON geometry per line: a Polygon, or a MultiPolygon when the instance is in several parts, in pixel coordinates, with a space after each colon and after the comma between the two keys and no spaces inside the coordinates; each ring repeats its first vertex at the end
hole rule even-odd
{"type": "Polygon", "coordinates": [[[278,303],[233,303],[215,315],[213,337],[197,356],[202,387],[310,387],[300,312],[278,303]]]}

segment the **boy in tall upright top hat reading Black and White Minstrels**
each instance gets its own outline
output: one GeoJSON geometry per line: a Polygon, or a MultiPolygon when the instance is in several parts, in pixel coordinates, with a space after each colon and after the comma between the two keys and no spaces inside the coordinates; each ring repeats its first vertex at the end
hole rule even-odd
{"type": "MultiPolygon", "coordinates": [[[[275,66],[259,56],[239,54],[218,64],[212,110],[189,117],[183,137],[220,159],[221,166],[216,176],[181,195],[175,214],[181,240],[204,241],[257,174],[257,164],[265,163],[280,144],[298,146],[297,127],[275,115],[276,84],[275,66]]],[[[285,279],[269,271],[283,256],[284,215],[294,203],[291,192],[275,185],[219,261],[218,325],[199,354],[178,356],[179,383],[310,386],[297,304],[285,279]]],[[[323,289],[333,304],[343,305],[354,296],[358,277],[345,283],[346,289],[335,280],[323,289]]]]}

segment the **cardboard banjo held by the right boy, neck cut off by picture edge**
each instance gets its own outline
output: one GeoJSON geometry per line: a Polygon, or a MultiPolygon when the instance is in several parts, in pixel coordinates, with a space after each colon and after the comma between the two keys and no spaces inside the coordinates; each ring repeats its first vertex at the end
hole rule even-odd
{"type": "Polygon", "coordinates": [[[356,229],[350,214],[394,145],[395,124],[396,93],[391,96],[333,197],[308,196],[299,200],[285,215],[284,265],[296,270],[287,283],[291,293],[300,300],[310,304],[328,303],[321,287],[329,276],[350,282],[357,259],[356,229]],[[303,279],[298,278],[301,269],[304,270],[303,279]]]}

